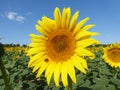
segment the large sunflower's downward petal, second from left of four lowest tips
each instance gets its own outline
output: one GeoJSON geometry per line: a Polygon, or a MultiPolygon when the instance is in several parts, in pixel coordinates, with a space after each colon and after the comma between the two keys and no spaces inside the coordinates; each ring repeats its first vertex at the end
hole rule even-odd
{"type": "Polygon", "coordinates": [[[61,62],[56,63],[56,67],[54,69],[54,81],[56,86],[59,86],[60,68],[61,68],[61,62]]]}

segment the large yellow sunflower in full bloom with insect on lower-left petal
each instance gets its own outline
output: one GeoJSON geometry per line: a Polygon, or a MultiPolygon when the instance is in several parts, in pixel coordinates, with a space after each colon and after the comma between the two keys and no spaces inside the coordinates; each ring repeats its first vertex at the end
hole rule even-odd
{"type": "Polygon", "coordinates": [[[36,78],[45,72],[48,85],[52,76],[56,86],[59,86],[60,79],[63,85],[67,86],[68,75],[76,83],[75,68],[86,73],[88,67],[83,57],[94,56],[86,47],[98,43],[90,38],[98,33],[88,31],[95,25],[84,26],[89,17],[77,24],[78,14],[78,11],[75,12],[71,18],[70,8],[64,8],[60,13],[56,7],[54,20],[46,16],[38,20],[36,29],[41,35],[30,34],[32,43],[28,50],[28,67],[34,67],[33,72],[38,70],[36,78]]]}

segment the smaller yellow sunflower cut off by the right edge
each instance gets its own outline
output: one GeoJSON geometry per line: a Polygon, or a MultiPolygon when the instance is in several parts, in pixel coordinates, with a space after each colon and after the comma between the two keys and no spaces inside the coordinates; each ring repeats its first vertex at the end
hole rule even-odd
{"type": "Polygon", "coordinates": [[[104,48],[103,59],[111,67],[120,68],[120,44],[114,43],[104,48]]]}

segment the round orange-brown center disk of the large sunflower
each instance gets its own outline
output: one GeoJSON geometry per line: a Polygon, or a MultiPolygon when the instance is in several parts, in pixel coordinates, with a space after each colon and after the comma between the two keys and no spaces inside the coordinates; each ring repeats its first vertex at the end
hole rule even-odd
{"type": "Polygon", "coordinates": [[[54,61],[67,60],[75,48],[75,39],[71,32],[58,30],[48,36],[47,55],[54,61]]]}

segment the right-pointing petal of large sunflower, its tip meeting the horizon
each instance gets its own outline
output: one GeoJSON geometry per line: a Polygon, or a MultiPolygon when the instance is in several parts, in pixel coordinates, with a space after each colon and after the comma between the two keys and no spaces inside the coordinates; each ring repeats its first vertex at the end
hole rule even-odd
{"type": "Polygon", "coordinates": [[[93,39],[93,38],[88,38],[88,39],[85,39],[85,40],[80,40],[80,41],[77,41],[76,42],[76,48],[78,47],[82,47],[82,48],[85,48],[85,47],[88,47],[92,44],[99,44],[99,41],[93,39]]]}

